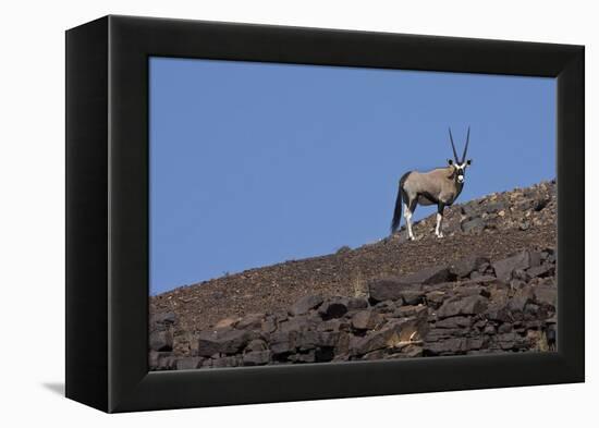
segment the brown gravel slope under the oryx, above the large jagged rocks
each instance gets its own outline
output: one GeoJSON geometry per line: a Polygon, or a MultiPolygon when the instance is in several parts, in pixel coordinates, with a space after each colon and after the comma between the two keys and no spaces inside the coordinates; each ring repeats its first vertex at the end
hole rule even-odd
{"type": "MultiPolygon", "coordinates": [[[[403,220],[402,220],[403,223],[403,220]]],[[[175,342],[227,317],[286,308],[300,297],[364,295],[367,282],[412,273],[476,254],[499,260],[524,249],[555,247],[557,185],[541,182],[454,205],[445,210],[444,239],[432,235],[435,216],[374,244],[286,261],[182,286],[150,297],[150,316],[176,315],[175,342]]]]}

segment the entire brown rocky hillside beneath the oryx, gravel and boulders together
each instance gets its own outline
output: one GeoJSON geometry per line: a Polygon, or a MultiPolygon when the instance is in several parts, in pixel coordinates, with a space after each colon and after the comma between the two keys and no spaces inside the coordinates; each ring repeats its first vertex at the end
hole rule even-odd
{"type": "Polygon", "coordinates": [[[150,299],[154,369],[538,350],[554,342],[555,184],[455,205],[359,248],[150,299]]]}

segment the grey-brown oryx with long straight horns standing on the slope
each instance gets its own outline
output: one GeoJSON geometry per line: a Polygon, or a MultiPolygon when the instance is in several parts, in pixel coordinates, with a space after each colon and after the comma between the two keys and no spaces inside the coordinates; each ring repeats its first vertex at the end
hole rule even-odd
{"type": "Polygon", "coordinates": [[[449,135],[451,148],[453,149],[453,160],[448,159],[448,167],[437,168],[428,172],[408,171],[401,178],[400,189],[395,200],[395,211],[393,212],[393,220],[391,221],[391,233],[394,233],[400,225],[403,205],[407,237],[408,240],[414,240],[414,233],[412,232],[412,216],[416,210],[416,205],[436,204],[437,228],[435,229],[435,234],[437,237],[443,237],[443,232],[441,230],[443,209],[447,205],[452,205],[457,196],[460,196],[464,187],[466,168],[472,163],[472,159],[466,160],[470,139],[469,126],[462,160],[457,159],[453,136],[451,135],[451,127],[449,130],[449,135]]]}

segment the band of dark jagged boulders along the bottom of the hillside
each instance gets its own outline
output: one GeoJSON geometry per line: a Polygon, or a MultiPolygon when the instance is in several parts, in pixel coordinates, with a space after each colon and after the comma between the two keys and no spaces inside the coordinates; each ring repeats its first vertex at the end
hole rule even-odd
{"type": "Polygon", "coordinates": [[[549,351],[555,345],[555,253],[468,257],[371,280],[368,296],[309,294],[286,310],[224,318],[173,353],[174,313],[151,319],[150,368],[549,351]]]}

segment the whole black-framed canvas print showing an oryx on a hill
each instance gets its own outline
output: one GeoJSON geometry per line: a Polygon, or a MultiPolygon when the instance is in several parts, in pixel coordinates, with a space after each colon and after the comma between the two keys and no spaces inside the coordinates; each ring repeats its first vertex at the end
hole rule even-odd
{"type": "Polygon", "coordinates": [[[583,167],[580,46],[72,28],[66,396],[584,381],[583,167]]]}

